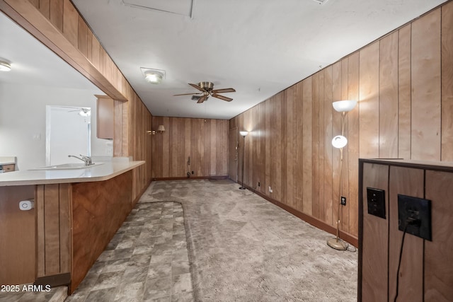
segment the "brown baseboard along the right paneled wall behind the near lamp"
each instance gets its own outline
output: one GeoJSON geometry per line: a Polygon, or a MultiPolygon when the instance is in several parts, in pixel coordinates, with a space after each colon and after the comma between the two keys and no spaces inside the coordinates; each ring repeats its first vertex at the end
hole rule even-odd
{"type": "MultiPolygon", "coordinates": [[[[294,209],[293,207],[289,207],[287,204],[279,202],[279,201],[269,197],[268,195],[265,195],[262,192],[253,189],[252,187],[248,187],[248,185],[243,185],[243,186],[246,187],[248,190],[251,190],[255,194],[259,195],[260,197],[263,197],[264,199],[268,200],[268,202],[272,202],[273,204],[284,209],[285,211],[288,211],[289,213],[293,214],[294,216],[299,217],[299,219],[302,219],[306,223],[310,223],[312,226],[316,226],[316,228],[320,228],[321,230],[326,231],[326,232],[331,233],[334,236],[336,236],[337,229],[335,227],[325,223],[324,221],[316,219],[313,216],[304,214],[304,213],[302,213],[302,211],[294,209]]],[[[350,233],[346,233],[345,231],[340,230],[340,238],[345,240],[346,242],[354,245],[356,248],[359,245],[358,238],[356,236],[352,236],[350,233]]]]}

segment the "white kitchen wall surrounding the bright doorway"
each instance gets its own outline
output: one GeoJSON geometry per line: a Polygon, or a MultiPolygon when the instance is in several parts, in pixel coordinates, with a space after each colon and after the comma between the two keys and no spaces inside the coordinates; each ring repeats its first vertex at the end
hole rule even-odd
{"type": "Polygon", "coordinates": [[[104,93],[0,83],[0,156],[16,156],[19,170],[45,165],[46,105],[90,107],[91,156],[108,156],[111,141],[96,138],[95,94],[104,93]]]}

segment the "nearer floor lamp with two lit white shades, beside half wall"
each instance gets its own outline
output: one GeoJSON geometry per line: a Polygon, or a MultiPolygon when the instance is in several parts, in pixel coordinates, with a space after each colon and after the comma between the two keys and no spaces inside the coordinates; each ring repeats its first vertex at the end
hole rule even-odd
{"type": "Polygon", "coordinates": [[[338,201],[338,219],[337,219],[337,236],[327,240],[327,245],[336,250],[347,250],[348,244],[344,243],[340,239],[340,207],[341,207],[341,195],[343,194],[343,147],[348,144],[348,139],[344,136],[345,134],[345,117],[346,113],[355,108],[357,100],[338,100],[332,103],[333,109],[337,112],[341,112],[341,135],[337,135],[332,139],[332,146],[336,149],[340,149],[340,198],[338,201]]]}

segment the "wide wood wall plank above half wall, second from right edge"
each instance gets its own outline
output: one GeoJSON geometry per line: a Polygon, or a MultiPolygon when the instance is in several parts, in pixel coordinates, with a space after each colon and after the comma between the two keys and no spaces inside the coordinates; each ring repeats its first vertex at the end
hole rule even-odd
{"type": "Polygon", "coordinates": [[[440,9],[412,23],[412,159],[440,160],[440,40],[440,9]]]}

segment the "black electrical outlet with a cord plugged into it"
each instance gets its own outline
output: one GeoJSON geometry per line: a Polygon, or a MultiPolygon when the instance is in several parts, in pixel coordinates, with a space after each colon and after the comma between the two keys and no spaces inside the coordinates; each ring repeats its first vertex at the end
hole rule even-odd
{"type": "Polygon", "coordinates": [[[431,241],[430,200],[398,194],[398,230],[405,227],[406,233],[431,241]]]}

